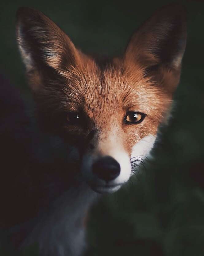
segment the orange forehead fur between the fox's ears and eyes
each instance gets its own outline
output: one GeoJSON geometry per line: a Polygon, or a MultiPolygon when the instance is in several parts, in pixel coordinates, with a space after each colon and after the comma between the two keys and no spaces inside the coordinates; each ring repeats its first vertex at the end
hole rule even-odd
{"type": "Polygon", "coordinates": [[[83,67],[70,67],[61,72],[64,78],[64,100],[67,111],[85,110],[87,113],[108,109],[138,111],[152,118],[161,114],[170,97],[160,84],[145,76],[140,65],[120,59],[100,67],[93,59],[83,67]]]}

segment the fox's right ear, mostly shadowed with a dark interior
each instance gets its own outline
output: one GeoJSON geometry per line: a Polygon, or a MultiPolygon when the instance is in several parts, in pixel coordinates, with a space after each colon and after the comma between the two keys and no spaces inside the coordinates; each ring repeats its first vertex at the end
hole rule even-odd
{"type": "Polygon", "coordinates": [[[154,69],[160,65],[179,70],[186,47],[186,11],[179,4],[164,6],[133,34],[125,59],[154,69]]]}

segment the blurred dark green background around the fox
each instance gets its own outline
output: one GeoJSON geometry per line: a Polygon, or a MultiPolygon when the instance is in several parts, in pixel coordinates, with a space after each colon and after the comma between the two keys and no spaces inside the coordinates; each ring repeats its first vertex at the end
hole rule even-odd
{"type": "MultiPolygon", "coordinates": [[[[15,42],[19,6],[44,12],[84,52],[116,55],[141,22],[170,2],[3,1],[0,72],[30,98],[15,42]]],[[[187,49],[164,146],[154,150],[155,160],[129,185],[94,205],[87,255],[204,255],[204,3],[182,3],[188,14],[187,49]]],[[[24,253],[31,254],[36,255],[33,248],[24,253]]]]}

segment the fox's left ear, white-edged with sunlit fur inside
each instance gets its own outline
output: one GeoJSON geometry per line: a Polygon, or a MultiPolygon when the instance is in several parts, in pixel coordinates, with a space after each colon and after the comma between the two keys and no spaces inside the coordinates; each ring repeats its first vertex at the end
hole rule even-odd
{"type": "Polygon", "coordinates": [[[16,16],[17,42],[28,72],[79,63],[69,37],[47,16],[28,7],[20,7],[16,16]]]}

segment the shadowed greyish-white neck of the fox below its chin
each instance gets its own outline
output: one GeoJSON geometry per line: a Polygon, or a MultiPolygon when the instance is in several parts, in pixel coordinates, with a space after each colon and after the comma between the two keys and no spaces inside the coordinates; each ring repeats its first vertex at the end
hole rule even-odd
{"type": "Polygon", "coordinates": [[[64,256],[65,252],[70,256],[79,255],[85,246],[88,209],[98,197],[86,183],[79,181],[78,186],[70,187],[47,212],[40,214],[22,246],[37,242],[40,255],[64,256]]]}

